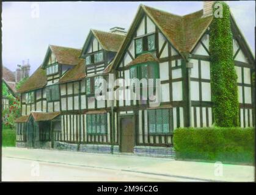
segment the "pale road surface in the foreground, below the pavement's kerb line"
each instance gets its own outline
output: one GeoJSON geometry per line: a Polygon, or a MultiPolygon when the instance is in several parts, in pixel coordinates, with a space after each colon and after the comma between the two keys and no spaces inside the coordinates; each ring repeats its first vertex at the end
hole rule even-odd
{"type": "Polygon", "coordinates": [[[83,166],[45,163],[18,158],[2,158],[2,181],[174,181],[169,177],[148,176],[134,172],[111,169],[86,168],[83,166]]]}

